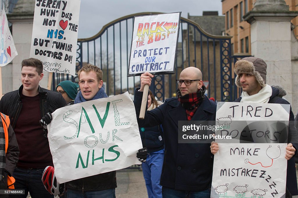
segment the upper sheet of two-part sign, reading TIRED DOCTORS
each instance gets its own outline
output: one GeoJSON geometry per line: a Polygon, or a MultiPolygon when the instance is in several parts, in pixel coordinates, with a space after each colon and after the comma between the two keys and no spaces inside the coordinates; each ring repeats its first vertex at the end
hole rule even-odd
{"type": "Polygon", "coordinates": [[[288,127],[285,126],[288,126],[289,112],[289,104],[217,102],[216,124],[223,126],[224,129],[215,134],[228,135],[232,139],[216,141],[227,143],[285,142],[288,135],[288,127]],[[274,138],[277,136],[274,134],[276,132],[280,132],[279,138],[274,138]]]}

